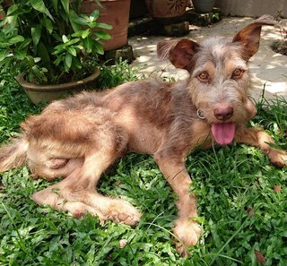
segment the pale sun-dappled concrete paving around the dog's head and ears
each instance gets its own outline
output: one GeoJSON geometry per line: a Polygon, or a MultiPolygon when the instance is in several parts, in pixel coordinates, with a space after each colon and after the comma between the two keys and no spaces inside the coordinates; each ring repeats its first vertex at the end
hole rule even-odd
{"type": "MultiPolygon", "coordinates": [[[[252,18],[228,17],[208,27],[191,25],[191,31],[184,38],[200,42],[212,36],[232,38],[239,30],[244,28],[252,18]]],[[[287,29],[287,20],[280,22],[282,29],[287,29]]],[[[274,53],[271,44],[281,39],[280,29],[273,26],[264,26],[261,32],[260,47],[255,56],[250,59],[249,68],[252,80],[251,96],[255,99],[262,94],[265,87],[265,97],[274,99],[276,96],[287,99],[287,56],[274,53]]],[[[185,79],[187,71],[176,69],[167,61],[159,61],[156,56],[156,43],[162,39],[172,39],[162,36],[135,36],[128,39],[134,49],[135,61],[133,65],[141,68],[140,73],[146,77],[160,75],[172,76],[175,79],[185,79]]]]}

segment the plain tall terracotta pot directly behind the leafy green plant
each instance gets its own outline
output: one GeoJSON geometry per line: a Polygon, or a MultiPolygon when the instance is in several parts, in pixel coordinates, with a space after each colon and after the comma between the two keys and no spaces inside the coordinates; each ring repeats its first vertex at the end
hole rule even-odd
{"type": "Polygon", "coordinates": [[[98,9],[100,10],[98,21],[113,26],[112,30],[107,30],[112,39],[103,41],[104,50],[109,51],[126,46],[131,0],[100,0],[100,4],[103,5],[103,9],[93,0],[84,0],[81,11],[90,15],[98,9]]]}

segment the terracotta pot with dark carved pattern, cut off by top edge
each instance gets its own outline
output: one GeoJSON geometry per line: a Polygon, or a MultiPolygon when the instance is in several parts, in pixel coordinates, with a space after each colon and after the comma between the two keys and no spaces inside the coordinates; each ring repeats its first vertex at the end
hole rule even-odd
{"type": "Polygon", "coordinates": [[[145,0],[153,18],[174,18],[186,13],[188,0],[145,0]]]}

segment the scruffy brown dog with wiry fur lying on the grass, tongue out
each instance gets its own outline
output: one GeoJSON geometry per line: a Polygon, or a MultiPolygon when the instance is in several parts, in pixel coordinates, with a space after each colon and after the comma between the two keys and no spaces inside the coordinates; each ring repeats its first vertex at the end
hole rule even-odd
{"type": "Polygon", "coordinates": [[[201,235],[185,167],[189,153],[236,141],[256,146],[274,165],[286,166],[287,153],[267,144],[274,141],[262,129],[246,126],[257,112],[248,99],[248,60],[257,53],[264,25],[274,25],[273,18],[252,21],[233,39],[159,42],[159,58],[186,69],[187,80],[127,82],[54,101],[38,116],[28,117],[20,136],[1,148],[0,171],[27,164],[34,178],[63,177],[32,199],[75,218],[90,212],[101,223],[111,219],[133,226],[140,211],[101,195],[96,186],[126,152],[151,154],[178,195],[173,232],[178,252],[187,255],[187,246],[196,245],[201,235]]]}

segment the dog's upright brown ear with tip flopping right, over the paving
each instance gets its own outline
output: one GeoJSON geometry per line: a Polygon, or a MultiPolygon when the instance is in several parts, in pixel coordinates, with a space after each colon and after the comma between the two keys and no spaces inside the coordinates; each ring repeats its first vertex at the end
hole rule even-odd
{"type": "Polygon", "coordinates": [[[259,47],[261,27],[264,25],[274,25],[275,21],[272,16],[263,15],[257,20],[252,21],[247,27],[240,30],[232,42],[239,42],[243,47],[243,58],[248,61],[251,56],[257,53],[259,47]]]}

